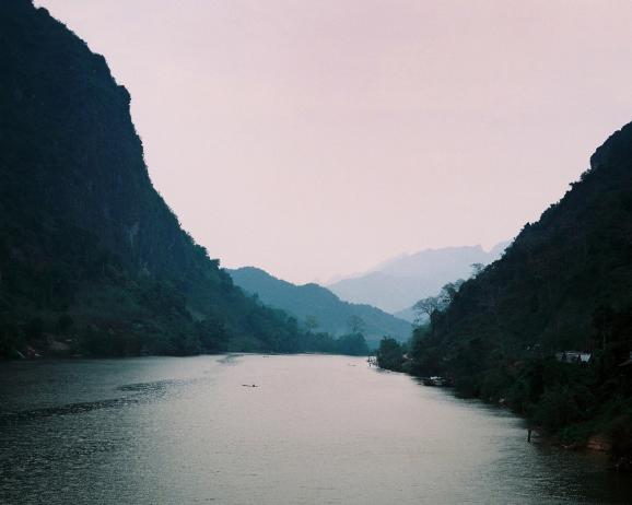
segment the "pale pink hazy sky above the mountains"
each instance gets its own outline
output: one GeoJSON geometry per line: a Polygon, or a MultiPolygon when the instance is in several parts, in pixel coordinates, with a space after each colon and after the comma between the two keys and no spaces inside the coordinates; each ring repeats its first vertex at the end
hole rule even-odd
{"type": "Polygon", "coordinates": [[[632,2],[37,0],[132,95],[222,265],[294,282],[511,238],[632,120],[632,2]]]}

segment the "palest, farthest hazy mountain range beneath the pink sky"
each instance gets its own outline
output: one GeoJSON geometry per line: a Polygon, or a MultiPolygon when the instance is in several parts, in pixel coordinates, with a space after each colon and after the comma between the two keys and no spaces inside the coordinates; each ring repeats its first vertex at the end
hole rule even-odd
{"type": "Polygon", "coordinates": [[[467,279],[472,263],[491,263],[508,244],[500,243],[489,251],[481,246],[464,246],[401,255],[327,287],[348,302],[374,305],[412,320],[409,307],[418,300],[435,295],[447,282],[467,279]]]}

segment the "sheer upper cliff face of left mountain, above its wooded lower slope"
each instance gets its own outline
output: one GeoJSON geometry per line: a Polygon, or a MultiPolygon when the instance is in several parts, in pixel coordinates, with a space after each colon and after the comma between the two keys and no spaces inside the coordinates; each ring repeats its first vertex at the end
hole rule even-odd
{"type": "Polygon", "coordinates": [[[102,56],[27,3],[2,5],[3,166],[21,172],[11,189],[93,231],[132,269],[190,263],[191,240],[151,186],[129,93],[102,56]]]}

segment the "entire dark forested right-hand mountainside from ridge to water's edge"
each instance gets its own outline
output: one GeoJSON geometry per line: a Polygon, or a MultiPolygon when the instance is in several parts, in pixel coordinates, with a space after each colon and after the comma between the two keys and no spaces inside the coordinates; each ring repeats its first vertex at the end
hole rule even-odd
{"type": "Polygon", "coordinates": [[[445,376],[565,443],[600,433],[632,454],[632,125],[503,258],[456,287],[400,369],[445,376]],[[555,359],[566,351],[590,360],[555,359]]]}

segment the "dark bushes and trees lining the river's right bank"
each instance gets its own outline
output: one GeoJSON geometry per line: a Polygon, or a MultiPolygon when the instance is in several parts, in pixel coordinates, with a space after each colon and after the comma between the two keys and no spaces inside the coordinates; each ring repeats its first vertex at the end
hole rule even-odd
{"type": "MultiPolygon", "coordinates": [[[[617,315],[613,318],[617,326],[617,315]]],[[[611,445],[615,466],[627,470],[632,469],[632,366],[620,366],[625,355],[621,350],[627,350],[625,326],[620,328],[609,332],[611,340],[593,353],[589,364],[554,356],[510,360],[500,352],[488,353],[479,339],[470,339],[467,349],[454,349],[446,359],[437,351],[441,341],[432,328],[411,339],[411,361],[405,360],[397,342],[387,340],[377,359],[383,368],[443,375],[454,381],[457,396],[511,408],[565,447],[585,447],[595,435],[602,436],[611,445]]]]}

